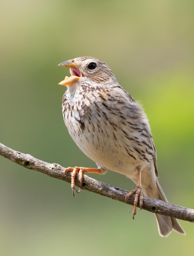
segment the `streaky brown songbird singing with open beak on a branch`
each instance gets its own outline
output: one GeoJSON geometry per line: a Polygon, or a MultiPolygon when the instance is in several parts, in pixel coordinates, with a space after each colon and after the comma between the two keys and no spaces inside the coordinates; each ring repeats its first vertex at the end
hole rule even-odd
{"type": "MultiPolygon", "coordinates": [[[[82,182],[84,173],[121,173],[136,184],[133,218],[143,194],[167,201],[158,182],[156,148],[143,107],[118,83],[110,67],[94,57],[77,57],[59,66],[69,68],[59,85],[67,90],[62,97],[62,115],[71,138],[98,168],[68,167],[75,196],[75,176],[82,182]]],[[[78,191],[80,192],[80,190],[78,191]]],[[[176,218],[156,215],[158,232],[167,237],[172,230],[185,234],[176,218]]]]}

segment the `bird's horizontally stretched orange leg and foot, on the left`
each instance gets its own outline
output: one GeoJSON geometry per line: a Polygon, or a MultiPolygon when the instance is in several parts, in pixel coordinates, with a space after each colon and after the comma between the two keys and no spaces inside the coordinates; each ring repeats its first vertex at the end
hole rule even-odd
{"type": "MultiPolygon", "coordinates": [[[[83,180],[83,174],[84,173],[98,173],[98,174],[102,174],[102,170],[100,168],[84,168],[84,167],[68,167],[65,168],[65,171],[63,173],[63,175],[65,175],[68,171],[72,171],[71,173],[71,189],[72,189],[72,193],[75,197],[75,177],[76,177],[76,173],[78,173],[79,177],[79,182],[82,183],[83,180]]],[[[79,191],[77,191],[78,193],[81,191],[81,189],[79,189],[79,191]]]]}

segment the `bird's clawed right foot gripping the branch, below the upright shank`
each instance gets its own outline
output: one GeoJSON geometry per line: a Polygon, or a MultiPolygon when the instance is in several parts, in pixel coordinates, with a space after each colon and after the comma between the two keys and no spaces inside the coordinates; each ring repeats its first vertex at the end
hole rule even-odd
{"type": "Polygon", "coordinates": [[[136,215],[136,209],[137,209],[137,204],[138,204],[138,198],[139,198],[139,207],[140,207],[140,209],[142,209],[142,206],[143,206],[142,187],[141,187],[141,186],[137,186],[136,189],[133,189],[132,191],[130,191],[129,193],[127,193],[127,195],[125,196],[125,202],[127,202],[127,200],[129,199],[129,196],[131,196],[131,195],[135,195],[134,205],[133,205],[133,208],[132,208],[132,211],[133,211],[133,220],[134,220],[135,215],[136,215]]]}

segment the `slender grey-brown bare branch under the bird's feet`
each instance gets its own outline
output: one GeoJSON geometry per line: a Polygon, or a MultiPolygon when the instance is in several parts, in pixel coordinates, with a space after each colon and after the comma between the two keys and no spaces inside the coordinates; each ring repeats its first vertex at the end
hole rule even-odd
{"type": "MultiPolygon", "coordinates": [[[[11,160],[16,164],[20,164],[27,169],[39,171],[41,173],[49,175],[50,177],[71,183],[71,172],[63,175],[65,168],[60,166],[59,164],[49,164],[47,162],[43,162],[42,160],[36,159],[29,154],[20,153],[11,148],[8,148],[1,143],[0,155],[6,157],[7,159],[11,160]]],[[[107,196],[111,199],[118,200],[123,203],[125,203],[125,195],[129,192],[116,186],[110,186],[103,182],[94,180],[87,175],[83,175],[82,184],[80,184],[80,182],[78,181],[78,175],[76,175],[75,184],[80,189],[86,189],[88,191],[107,196]]],[[[134,195],[130,196],[129,200],[127,200],[127,204],[133,205],[134,197],[134,195]]],[[[194,222],[193,209],[169,204],[167,202],[163,202],[154,198],[147,198],[144,196],[142,209],[150,211],[152,213],[159,213],[162,215],[174,217],[180,220],[194,222]]]]}

